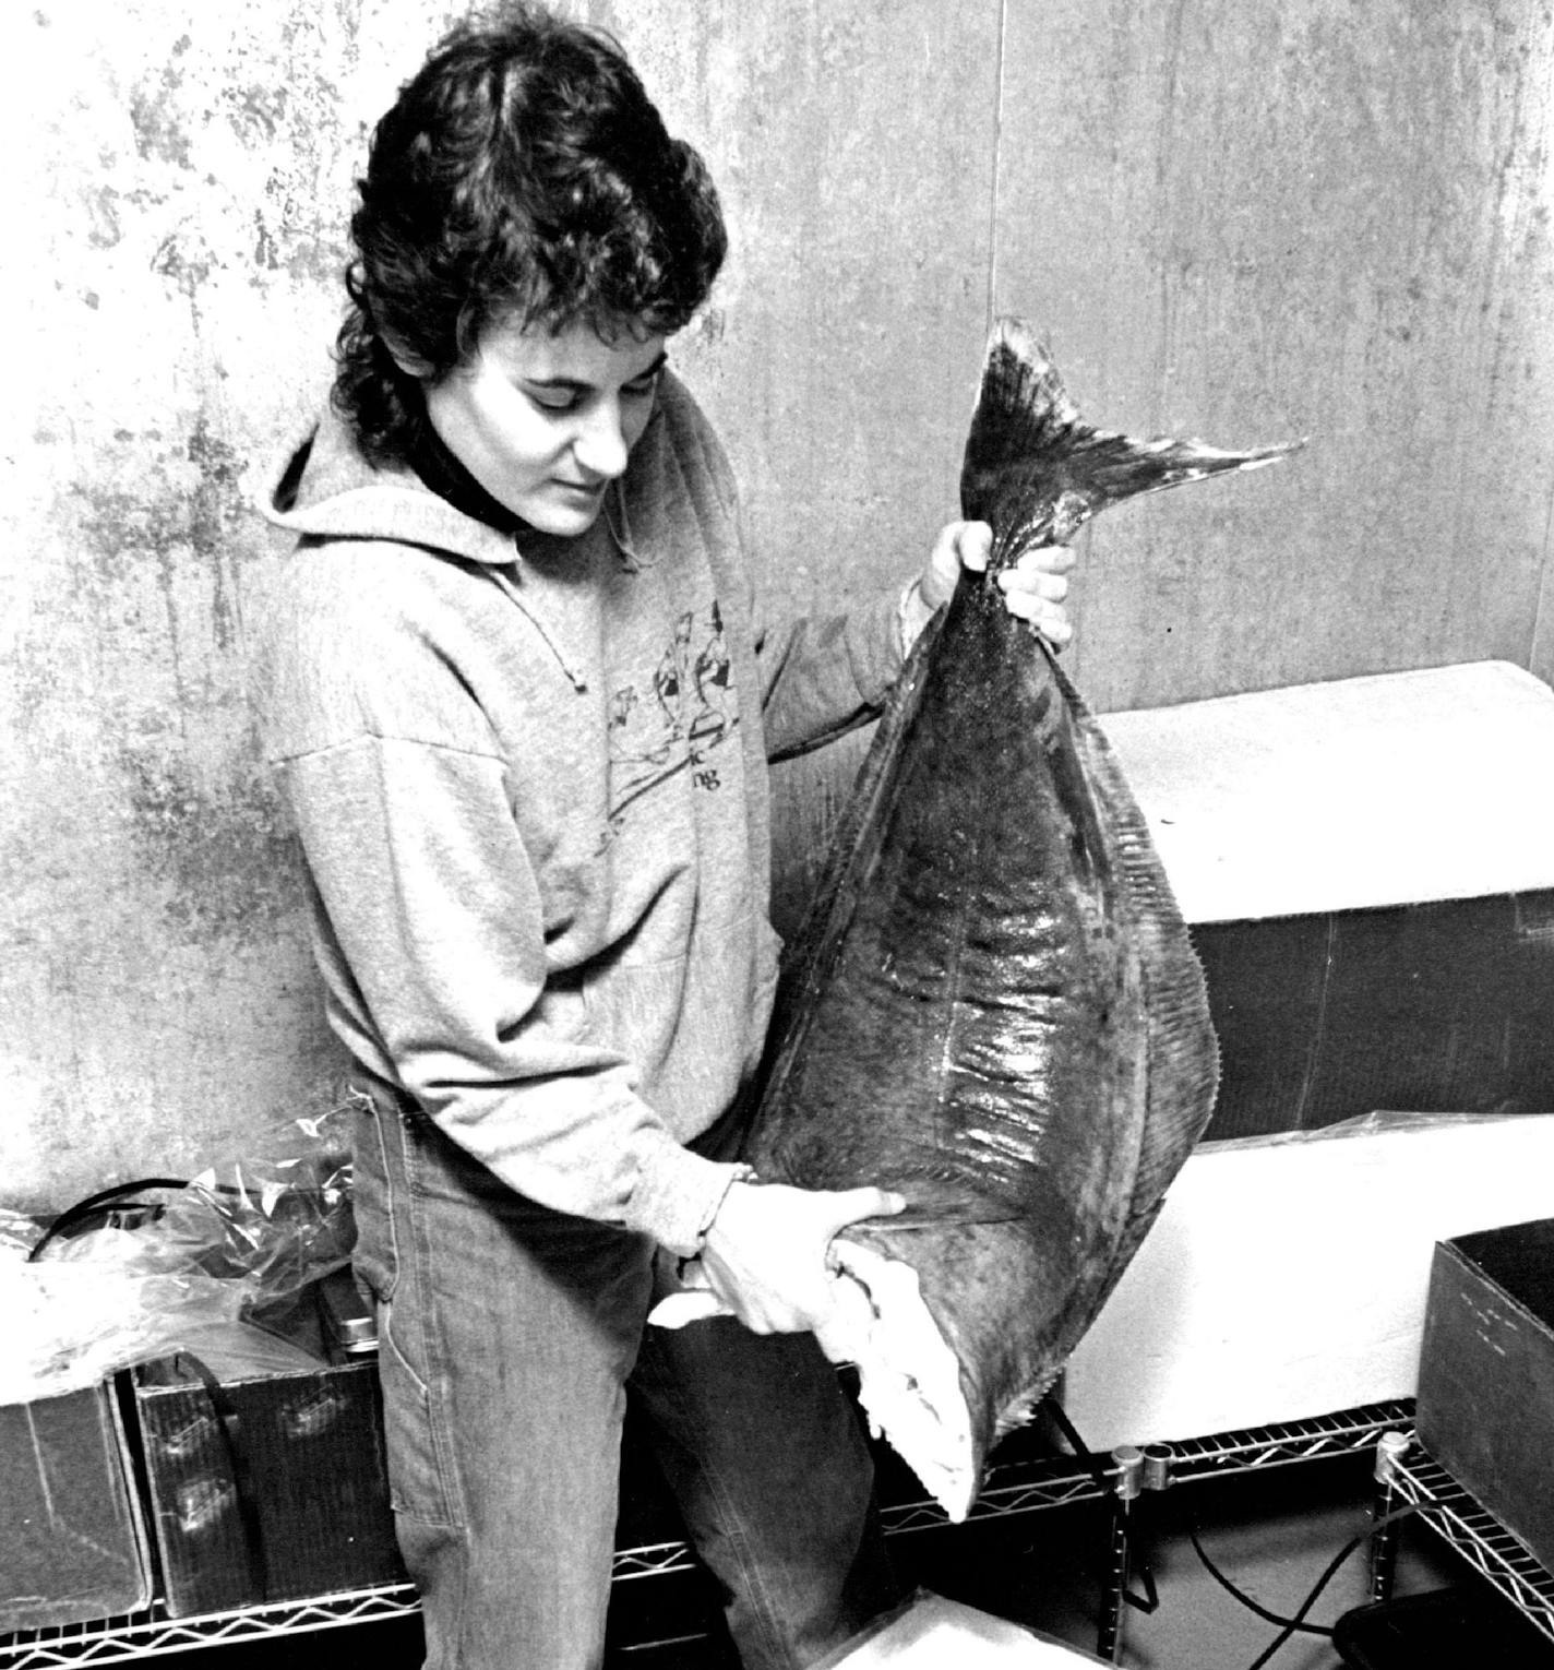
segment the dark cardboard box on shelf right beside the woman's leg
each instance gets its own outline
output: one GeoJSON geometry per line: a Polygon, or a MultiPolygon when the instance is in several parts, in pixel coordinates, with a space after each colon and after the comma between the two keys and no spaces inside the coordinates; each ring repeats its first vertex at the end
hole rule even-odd
{"type": "Polygon", "coordinates": [[[135,1371],[170,1617],[406,1580],[372,1361],[207,1386],[135,1371]]]}

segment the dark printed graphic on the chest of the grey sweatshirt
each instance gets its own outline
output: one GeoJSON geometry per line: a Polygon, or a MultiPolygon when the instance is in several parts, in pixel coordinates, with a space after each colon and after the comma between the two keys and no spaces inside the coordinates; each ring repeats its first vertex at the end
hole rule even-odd
{"type": "Polygon", "coordinates": [[[738,723],[723,615],[713,603],[681,615],[651,678],[609,700],[611,835],[636,802],[679,772],[718,790],[714,755],[738,723]]]}

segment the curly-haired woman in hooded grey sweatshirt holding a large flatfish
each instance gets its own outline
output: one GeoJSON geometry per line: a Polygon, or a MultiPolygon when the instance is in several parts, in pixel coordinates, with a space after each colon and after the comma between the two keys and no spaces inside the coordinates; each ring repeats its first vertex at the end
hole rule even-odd
{"type": "MultiPolygon", "coordinates": [[[[753,608],[723,451],[668,344],[724,254],[701,159],[604,35],[509,5],[379,124],[332,411],[272,516],[267,633],[330,1024],[357,1065],[357,1273],[434,1667],[603,1653],[624,1388],[748,1667],[898,1597],[810,1329],[878,1191],[721,1157],[761,1050],[766,762],[878,711],[985,566],[753,608]],[[736,1319],[648,1329],[699,1258],[736,1319]]],[[[1053,641],[1068,553],[1007,584],[1053,641]]]]}

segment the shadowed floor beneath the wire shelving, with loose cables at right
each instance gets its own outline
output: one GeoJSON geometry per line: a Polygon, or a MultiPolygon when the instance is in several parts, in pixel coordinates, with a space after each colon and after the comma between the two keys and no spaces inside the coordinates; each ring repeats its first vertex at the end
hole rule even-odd
{"type": "MultiPolygon", "coordinates": [[[[1208,1575],[1192,1533],[1257,1605],[1289,1617],[1345,1545],[1365,1535],[1369,1473],[1370,1456],[1350,1455],[1140,1498],[1147,1511],[1137,1523],[1158,1605],[1152,1613],[1127,1610],[1118,1662],[1133,1670],[1554,1670],[1554,1643],[1414,1521],[1402,1528],[1397,1583],[1407,1605],[1372,1618],[1370,1632],[1350,1642],[1349,1650],[1365,1657],[1340,1658],[1332,1640],[1314,1633],[1269,1655],[1279,1625],[1208,1575]]],[[[1103,1508],[1080,1503],[900,1533],[891,1548],[910,1580],[1093,1650],[1107,1535],[1103,1508]]],[[[1365,1548],[1357,1546],[1307,1622],[1330,1628],[1367,1602],[1365,1585],[1365,1548]]],[[[611,1640],[608,1670],[736,1667],[699,1573],[618,1583],[611,1640]]],[[[412,1670],[419,1662],[414,1620],[180,1655],[187,1670],[412,1670]]]]}

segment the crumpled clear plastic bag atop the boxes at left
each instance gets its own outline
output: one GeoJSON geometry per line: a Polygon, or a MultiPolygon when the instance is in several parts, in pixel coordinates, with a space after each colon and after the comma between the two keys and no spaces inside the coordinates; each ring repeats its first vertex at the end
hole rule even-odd
{"type": "Polygon", "coordinates": [[[242,1156],[184,1187],[144,1191],[152,1196],[142,1221],[75,1234],[73,1214],[45,1231],[0,1211],[0,1403],[78,1391],[134,1363],[199,1349],[214,1329],[265,1328],[347,1264],[347,1107],[284,1121],[242,1156]]]}

